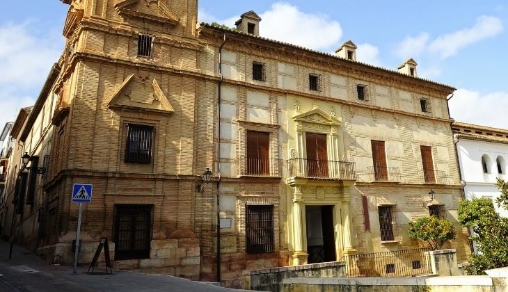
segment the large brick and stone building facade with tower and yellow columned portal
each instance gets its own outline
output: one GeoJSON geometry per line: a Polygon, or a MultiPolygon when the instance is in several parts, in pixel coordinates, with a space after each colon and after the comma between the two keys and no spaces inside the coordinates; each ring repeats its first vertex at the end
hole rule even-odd
{"type": "Polygon", "coordinates": [[[252,11],[235,30],[197,24],[193,0],[63,2],[40,254],[72,262],[81,183],[81,263],[106,237],[116,268],[216,279],[219,228],[232,279],[418,248],[408,222],[430,209],[466,259],[454,88],[414,60],[395,72],[356,62],[351,41],[334,56],[267,40],[252,11]]]}

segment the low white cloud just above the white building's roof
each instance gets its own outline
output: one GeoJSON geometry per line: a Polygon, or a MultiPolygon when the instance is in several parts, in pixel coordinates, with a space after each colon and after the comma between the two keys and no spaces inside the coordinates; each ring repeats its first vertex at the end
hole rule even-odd
{"type": "Polygon", "coordinates": [[[450,116],[457,122],[508,129],[508,92],[480,92],[458,89],[450,99],[450,116]]]}

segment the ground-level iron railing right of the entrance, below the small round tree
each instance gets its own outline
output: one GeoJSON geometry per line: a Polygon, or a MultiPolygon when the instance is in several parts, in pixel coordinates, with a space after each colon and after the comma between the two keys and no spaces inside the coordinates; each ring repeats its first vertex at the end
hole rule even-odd
{"type": "Polygon", "coordinates": [[[427,249],[344,256],[347,277],[407,277],[432,273],[427,249]]]}

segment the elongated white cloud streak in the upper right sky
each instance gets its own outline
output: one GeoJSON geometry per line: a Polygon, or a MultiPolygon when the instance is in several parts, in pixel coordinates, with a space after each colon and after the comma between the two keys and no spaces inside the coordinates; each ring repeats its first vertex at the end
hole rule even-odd
{"type": "Polygon", "coordinates": [[[429,49],[441,58],[447,58],[454,56],[459,49],[467,47],[469,44],[491,38],[502,31],[501,19],[484,15],[478,17],[475,25],[470,29],[440,35],[429,44],[429,49]]]}

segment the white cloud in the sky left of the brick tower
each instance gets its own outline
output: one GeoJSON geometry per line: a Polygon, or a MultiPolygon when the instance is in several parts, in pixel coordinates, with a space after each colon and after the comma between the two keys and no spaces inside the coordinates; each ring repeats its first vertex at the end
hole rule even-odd
{"type": "Polygon", "coordinates": [[[13,121],[19,108],[35,102],[40,87],[63,48],[52,31],[36,37],[31,24],[0,25],[0,127],[13,121]]]}

